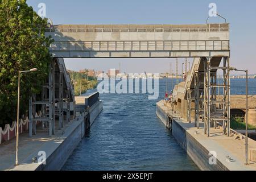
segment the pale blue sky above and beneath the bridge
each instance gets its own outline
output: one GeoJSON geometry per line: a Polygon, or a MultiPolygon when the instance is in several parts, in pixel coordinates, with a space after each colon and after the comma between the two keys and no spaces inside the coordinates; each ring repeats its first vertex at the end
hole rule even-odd
{"type": "MultiPolygon", "coordinates": [[[[205,23],[209,3],[217,5],[218,14],[230,23],[232,66],[256,73],[256,1],[255,0],[27,0],[38,11],[39,3],[46,3],[47,18],[54,24],[193,24],[205,23]]],[[[222,23],[221,18],[210,18],[222,23]]],[[[184,59],[179,60],[179,68],[184,59]]],[[[68,69],[107,70],[118,68],[126,72],[166,72],[172,59],[66,59],[68,69]]]]}

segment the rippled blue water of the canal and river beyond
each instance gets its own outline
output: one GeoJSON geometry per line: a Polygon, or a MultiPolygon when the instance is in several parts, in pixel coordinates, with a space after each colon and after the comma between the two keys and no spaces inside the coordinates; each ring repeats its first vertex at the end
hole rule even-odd
{"type": "MultiPolygon", "coordinates": [[[[231,85],[232,94],[245,94],[245,79],[231,85]]],[[[62,170],[199,170],[156,117],[155,103],[165,90],[166,80],[160,79],[158,100],[148,100],[148,94],[100,94],[104,109],[62,170]]],[[[255,80],[249,90],[256,94],[255,80]]]]}

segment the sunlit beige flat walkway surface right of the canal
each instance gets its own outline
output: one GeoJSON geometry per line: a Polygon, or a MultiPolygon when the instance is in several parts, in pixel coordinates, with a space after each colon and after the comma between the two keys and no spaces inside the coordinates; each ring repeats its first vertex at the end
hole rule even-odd
{"type": "MultiPolygon", "coordinates": [[[[170,107],[164,105],[163,101],[158,102],[166,113],[172,115],[170,107]]],[[[256,170],[256,163],[250,162],[249,165],[245,165],[245,139],[236,139],[238,135],[234,137],[227,137],[223,134],[223,129],[210,129],[210,137],[204,134],[204,125],[200,123],[200,129],[195,127],[194,121],[188,123],[181,118],[175,118],[175,121],[183,127],[188,134],[197,140],[208,151],[215,151],[217,153],[217,159],[220,160],[229,170],[241,171],[241,170],[256,170]],[[226,156],[231,157],[231,162],[226,161],[226,156]]],[[[248,138],[248,151],[249,148],[256,148],[256,141],[248,138]]],[[[248,154],[249,158],[249,154],[248,154]]]]}

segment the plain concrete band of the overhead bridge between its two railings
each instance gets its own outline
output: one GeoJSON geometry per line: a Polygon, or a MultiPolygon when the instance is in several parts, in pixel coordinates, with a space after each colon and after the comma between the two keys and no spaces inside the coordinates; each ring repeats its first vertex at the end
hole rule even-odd
{"type": "Polygon", "coordinates": [[[46,32],[61,41],[229,40],[229,32],[46,32]]]}

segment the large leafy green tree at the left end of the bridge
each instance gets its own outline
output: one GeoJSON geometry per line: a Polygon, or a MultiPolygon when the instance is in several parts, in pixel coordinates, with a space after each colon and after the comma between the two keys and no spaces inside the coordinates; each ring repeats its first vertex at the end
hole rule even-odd
{"type": "Polygon", "coordinates": [[[18,71],[38,68],[21,76],[20,113],[26,114],[31,93],[40,93],[51,61],[51,38],[44,36],[42,19],[26,0],[0,0],[0,126],[15,121],[18,71]]]}

